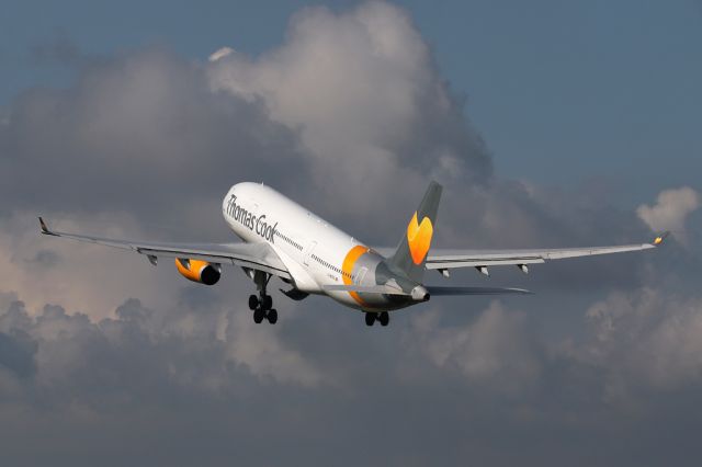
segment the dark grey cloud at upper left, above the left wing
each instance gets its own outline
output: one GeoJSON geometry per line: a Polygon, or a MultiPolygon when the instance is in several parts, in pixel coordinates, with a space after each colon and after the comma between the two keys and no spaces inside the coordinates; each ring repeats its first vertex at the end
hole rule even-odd
{"type": "Polygon", "coordinates": [[[294,132],[257,102],[211,92],[196,64],[147,49],[79,71],[69,89],[19,96],[0,125],[3,210],[160,213],[173,226],[214,225],[217,205],[201,205],[235,180],[306,172],[294,132]]]}

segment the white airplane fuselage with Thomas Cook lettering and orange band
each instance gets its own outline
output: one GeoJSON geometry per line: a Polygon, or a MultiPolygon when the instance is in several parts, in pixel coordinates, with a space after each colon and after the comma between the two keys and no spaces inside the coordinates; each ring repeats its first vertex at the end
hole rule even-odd
{"type": "Polygon", "coordinates": [[[325,294],[358,309],[398,308],[383,297],[325,291],[332,284],[374,284],[384,258],[275,190],[238,183],[227,192],[222,212],[244,241],[273,248],[301,292],[325,294]]]}

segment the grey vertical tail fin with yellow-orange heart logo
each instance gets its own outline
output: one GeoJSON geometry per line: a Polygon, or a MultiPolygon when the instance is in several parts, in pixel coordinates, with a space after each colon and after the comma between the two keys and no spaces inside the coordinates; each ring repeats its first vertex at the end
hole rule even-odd
{"type": "Polygon", "coordinates": [[[415,282],[421,282],[424,275],[424,261],[431,247],[431,237],[437,224],[437,210],[441,200],[442,186],[431,182],[424,197],[407,226],[397,251],[388,259],[390,267],[404,273],[415,282]]]}

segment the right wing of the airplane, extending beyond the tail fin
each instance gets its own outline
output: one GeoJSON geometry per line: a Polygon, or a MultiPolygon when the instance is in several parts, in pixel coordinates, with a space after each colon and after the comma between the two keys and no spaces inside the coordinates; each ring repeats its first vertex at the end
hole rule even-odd
{"type": "Polygon", "coordinates": [[[432,250],[427,257],[426,267],[428,270],[450,270],[453,267],[473,266],[487,273],[488,266],[511,264],[520,266],[526,272],[528,264],[544,263],[551,260],[653,249],[663,243],[667,236],[668,232],[665,232],[649,243],[614,247],[554,248],[542,250],[432,250]]]}

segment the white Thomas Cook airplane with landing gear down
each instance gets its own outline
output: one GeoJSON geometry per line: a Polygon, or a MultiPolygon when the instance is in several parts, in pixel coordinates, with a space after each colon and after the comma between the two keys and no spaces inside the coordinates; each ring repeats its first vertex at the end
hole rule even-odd
{"type": "Polygon", "coordinates": [[[236,243],[149,243],[107,239],[50,230],[39,217],[42,234],[65,237],[158,259],[174,258],[185,278],[214,285],[223,265],[240,266],[256,284],[249,296],[253,321],[274,324],[278,310],[268,294],[271,277],[290,288],[280,291],[293,300],[310,294],[331,297],[364,312],[366,326],[389,322],[389,312],[428,301],[432,296],[529,294],[511,287],[432,286],[423,283],[427,270],[448,277],[456,267],[475,267],[489,275],[488,267],[513,265],[523,273],[531,264],[596,254],[641,251],[658,247],[668,232],[649,243],[529,250],[431,250],[442,186],[432,181],[412,214],[395,249],[370,248],[308,209],[262,183],[242,182],[229,189],[222,213],[229,228],[242,240],[236,243]]]}

